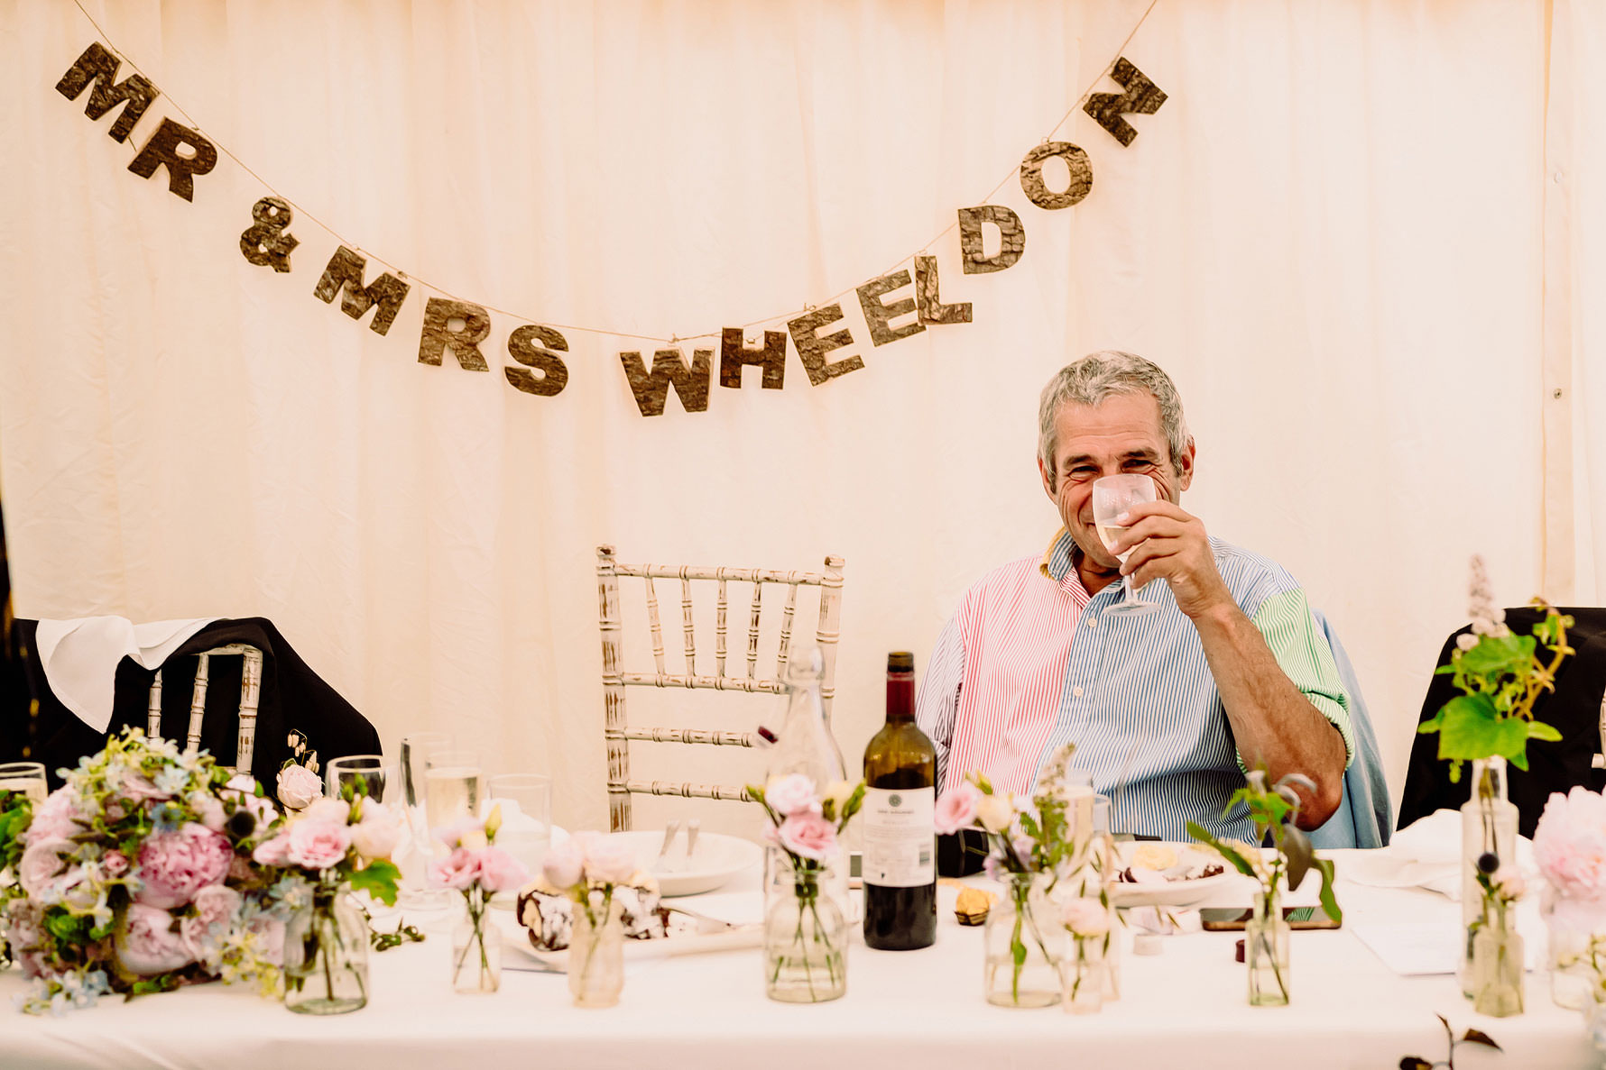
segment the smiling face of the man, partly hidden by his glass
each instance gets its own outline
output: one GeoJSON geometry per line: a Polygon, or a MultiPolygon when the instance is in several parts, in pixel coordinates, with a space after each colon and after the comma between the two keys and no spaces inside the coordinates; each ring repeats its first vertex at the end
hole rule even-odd
{"type": "Polygon", "coordinates": [[[1172,467],[1160,430],[1160,403],[1147,391],[1111,395],[1099,406],[1063,404],[1054,419],[1054,472],[1037,459],[1042,489],[1082,553],[1105,568],[1119,568],[1094,528],[1094,480],[1123,472],[1148,475],[1158,497],[1177,504],[1193,481],[1193,443],[1180,457],[1180,470],[1172,467]]]}

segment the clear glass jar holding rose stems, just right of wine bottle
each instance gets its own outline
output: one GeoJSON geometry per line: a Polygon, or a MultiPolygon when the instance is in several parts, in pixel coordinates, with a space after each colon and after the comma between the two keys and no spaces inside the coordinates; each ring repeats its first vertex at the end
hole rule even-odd
{"type": "Polygon", "coordinates": [[[1046,873],[1010,873],[1004,895],[988,911],[983,934],[988,1003],[1001,1007],[1060,1003],[1060,963],[1068,934],[1046,894],[1050,881],[1046,873]]]}

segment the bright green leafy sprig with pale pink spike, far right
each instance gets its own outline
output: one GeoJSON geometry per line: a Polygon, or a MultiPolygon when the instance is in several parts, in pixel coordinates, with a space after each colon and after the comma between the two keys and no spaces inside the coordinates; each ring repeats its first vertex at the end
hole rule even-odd
{"type": "Polygon", "coordinates": [[[1502,757],[1527,768],[1527,741],[1555,743],[1561,733],[1534,720],[1534,703],[1555,690],[1556,671],[1567,655],[1572,618],[1543,598],[1532,605],[1545,616],[1532,635],[1513,635],[1505,610],[1494,606],[1484,560],[1473,557],[1469,611],[1473,630],[1455,640],[1450,664],[1436,671],[1449,675],[1460,695],[1445,703],[1416,732],[1439,735],[1439,757],[1450,762],[1450,780],[1461,778],[1461,762],[1502,757]],[[1540,656],[1543,646],[1548,656],[1540,656]]]}

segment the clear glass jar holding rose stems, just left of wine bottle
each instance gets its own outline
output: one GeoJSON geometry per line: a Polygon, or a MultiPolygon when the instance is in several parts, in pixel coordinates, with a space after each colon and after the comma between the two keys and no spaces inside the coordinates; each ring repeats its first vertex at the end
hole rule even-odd
{"type": "Polygon", "coordinates": [[[825,1003],[848,991],[848,922],[832,866],[790,869],[790,895],[764,911],[764,995],[781,1003],[825,1003]]]}

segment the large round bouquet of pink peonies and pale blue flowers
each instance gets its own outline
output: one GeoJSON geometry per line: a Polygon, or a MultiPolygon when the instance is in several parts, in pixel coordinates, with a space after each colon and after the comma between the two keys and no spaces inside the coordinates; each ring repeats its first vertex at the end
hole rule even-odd
{"type": "Polygon", "coordinates": [[[127,728],[37,807],[0,792],[0,911],[27,1012],[222,979],[279,982],[284,914],[254,861],[278,818],[251,776],[127,728]]]}

